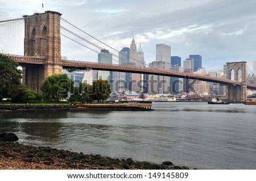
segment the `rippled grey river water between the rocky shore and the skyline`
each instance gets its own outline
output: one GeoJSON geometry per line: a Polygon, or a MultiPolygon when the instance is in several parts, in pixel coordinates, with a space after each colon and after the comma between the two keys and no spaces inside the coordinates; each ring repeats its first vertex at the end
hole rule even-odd
{"type": "Polygon", "coordinates": [[[0,133],[84,154],[197,169],[256,169],[256,106],[161,102],[152,108],[1,112],[0,133]]]}

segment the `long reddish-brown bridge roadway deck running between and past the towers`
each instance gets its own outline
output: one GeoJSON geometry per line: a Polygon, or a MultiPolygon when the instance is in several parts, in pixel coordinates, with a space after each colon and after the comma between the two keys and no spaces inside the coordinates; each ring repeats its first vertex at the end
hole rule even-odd
{"type": "MultiPolygon", "coordinates": [[[[45,58],[40,57],[30,57],[30,56],[17,56],[7,54],[14,58],[16,62],[20,65],[35,64],[44,65],[46,64],[45,58]]],[[[232,81],[225,78],[216,78],[212,76],[199,75],[193,73],[183,73],[179,71],[163,70],[158,68],[144,68],[142,66],[129,66],[129,65],[117,65],[117,64],[104,64],[86,61],[73,61],[73,60],[62,60],[63,69],[93,69],[93,70],[106,70],[106,71],[121,71],[130,73],[140,73],[140,74],[151,74],[151,75],[163,75],[167,77],[178,77],[178,78],[189,78],[198,79],[200,81],[216,82],[224,85],[241,85],[241,82],[232,81]]],[[[247,83],[247,89],[256,90],[256,85],[247,83]]]]}

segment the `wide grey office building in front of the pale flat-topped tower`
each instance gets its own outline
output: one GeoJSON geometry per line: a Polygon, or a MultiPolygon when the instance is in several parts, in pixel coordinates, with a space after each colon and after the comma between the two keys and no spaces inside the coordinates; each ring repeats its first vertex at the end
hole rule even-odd
{"type": "MultiPolygon", "coordinates": [[[[170,58],[169,58],[170,60],[170,58]]],[[[152,68],[170,70],[170,61],[153,61],[149,64],[152,68]]],[[[163,71],[164,71],[163,70],[163,71]]],[[[148,93],[149,94],[169,94],[170,77],[161,75],[148,75],[148,93]]]]}

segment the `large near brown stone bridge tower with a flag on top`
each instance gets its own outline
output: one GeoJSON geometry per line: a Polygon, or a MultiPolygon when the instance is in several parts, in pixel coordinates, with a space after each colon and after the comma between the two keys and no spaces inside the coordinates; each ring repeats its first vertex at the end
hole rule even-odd
{"type": "Polygon", "coordinates": [[[46,77],[61,74],[60,54],[60,16],[59,12],[45,11],[33,15],[24,15],[25,36],[24,56],[45,58],[43,66],[23,65],[23,82],[35,91],[46,77]]]}

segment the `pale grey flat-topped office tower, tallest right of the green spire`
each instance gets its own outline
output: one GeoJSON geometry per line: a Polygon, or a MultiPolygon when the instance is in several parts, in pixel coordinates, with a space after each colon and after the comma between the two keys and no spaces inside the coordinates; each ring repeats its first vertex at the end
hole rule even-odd
{"type": "Polygon", "coordinates": [[[156,60],[170,64],[171,46],[166,44],[156,44],[156,60]]]}

